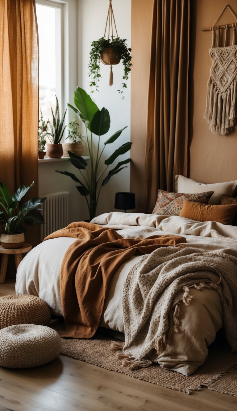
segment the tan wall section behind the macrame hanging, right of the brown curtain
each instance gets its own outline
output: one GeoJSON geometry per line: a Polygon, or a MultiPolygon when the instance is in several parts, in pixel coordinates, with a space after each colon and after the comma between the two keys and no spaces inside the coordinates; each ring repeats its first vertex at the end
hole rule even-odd
{"type": "MultiPolygon", "coordinates": [[[[209,27],[216,21],[225,0],[195,0],[193,10],[193,44],[191,49],[193,77],[191,85],[191,129],[190,129],[190,177],[200,182],[222,182],[237,179],[237,127],[227,136],[212,134],[203,114],[206,104],[207,79],[211,67],[209,48],[211,31],[209,27]]],[[[236,0],[228,4],[237,13],[236,0]]],[[[228,9],[218,22],[220,25],[234,23],[228,9]]],[[[232,30],[230,40],[232,42],[232,30]]]]}

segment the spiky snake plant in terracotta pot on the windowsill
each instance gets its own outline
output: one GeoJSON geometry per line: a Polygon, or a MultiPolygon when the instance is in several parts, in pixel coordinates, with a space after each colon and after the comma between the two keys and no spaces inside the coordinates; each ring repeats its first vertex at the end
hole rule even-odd
{"type": "MultiPolygon", "coordinates": [[[[56,96],[55,96],[56,97],[56,96]]],[[[53,116],[53,124],[49,122],[49,127],[51,130],[51,133],[48,133],[49,141],[50,143],[47,144],[47,150],[46,150],[46,155],[51,158],[60,158],[63,155],[63,147],[60,141],[63,138],[63,133],[65,130],[65,127],[63,128],[63,123],[66,115],[66,111],[63,115],[63,118],[60,121],[60,114],[59,114],[59,105],[58,105],[58,99],[56,97],[56,109],[55,109],[55,115],[53,114],[53,109],[51,107],[52,111],[52,116],[53,116]]]]}

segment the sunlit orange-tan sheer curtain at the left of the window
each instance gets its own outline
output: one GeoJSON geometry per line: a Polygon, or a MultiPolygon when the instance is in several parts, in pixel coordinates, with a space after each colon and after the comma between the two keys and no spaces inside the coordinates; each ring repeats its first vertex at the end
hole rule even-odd
{"type": "MultiPolygon", "coordinates": [[[[39,47],[35,0],[0,1],[0,181],[38,196],[39,47]]],[[[38,232],[38,228],[34,228],[38,232]]]]}

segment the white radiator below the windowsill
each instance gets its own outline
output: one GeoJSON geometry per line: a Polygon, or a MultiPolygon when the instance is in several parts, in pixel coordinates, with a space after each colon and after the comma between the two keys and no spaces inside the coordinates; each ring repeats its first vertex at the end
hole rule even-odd
{"type": "Polygon", "coordinates": [[[41,228],[41,240],[68,225],[68,197],[69,192],[63,191],[60,193],[45,194],[42,197],[47,197],[44,201],[42,214],[45,224],[41,228]]]}

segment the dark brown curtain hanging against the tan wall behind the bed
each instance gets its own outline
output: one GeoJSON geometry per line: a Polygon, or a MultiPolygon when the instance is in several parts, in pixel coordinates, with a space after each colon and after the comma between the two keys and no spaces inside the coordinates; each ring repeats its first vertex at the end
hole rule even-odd
{"type": "Polygon", "coordinates": [[[146,210],[187,175],[190,0],[154,0],[146,129],[146,210]]]}

